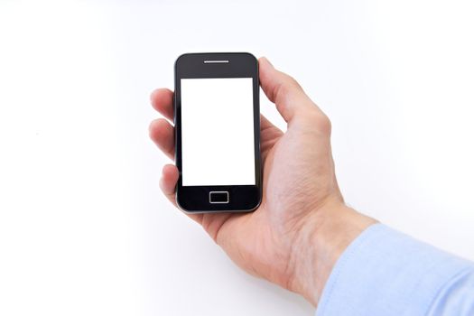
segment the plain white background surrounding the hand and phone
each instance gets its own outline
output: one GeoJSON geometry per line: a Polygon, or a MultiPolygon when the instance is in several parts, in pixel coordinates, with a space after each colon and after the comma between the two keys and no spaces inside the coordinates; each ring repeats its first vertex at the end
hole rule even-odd
{"type": "Polygon", "coordinates": [[[251,51],[299,79],[332,120],[349,204],[474,259],[473,15],[471,1],[1,1],[0,314],[312,314],[160,194],[148,95],[189,51],[251,51]]]}

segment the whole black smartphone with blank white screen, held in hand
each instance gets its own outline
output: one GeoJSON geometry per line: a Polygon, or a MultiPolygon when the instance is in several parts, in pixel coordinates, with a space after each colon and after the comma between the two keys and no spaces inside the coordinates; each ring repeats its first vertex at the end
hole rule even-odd
{"type": "Polygon", "coordinates": [[[187,53],[174,64],[176,202],[246,212],[262,200],[258,62],[246,52],[187,53]]]}

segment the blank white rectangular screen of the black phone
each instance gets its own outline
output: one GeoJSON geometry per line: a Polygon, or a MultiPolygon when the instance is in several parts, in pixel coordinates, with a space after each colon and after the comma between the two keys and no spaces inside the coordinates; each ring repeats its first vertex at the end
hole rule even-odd
{"type": "Polygon", "coordinates": [[[182,185],[255,185],[252,78],[181,79],[182,185]]]}

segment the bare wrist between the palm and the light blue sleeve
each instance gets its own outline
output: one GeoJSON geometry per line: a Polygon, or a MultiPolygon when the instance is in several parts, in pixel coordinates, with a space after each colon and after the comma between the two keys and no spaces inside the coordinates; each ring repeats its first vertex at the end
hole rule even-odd
{"type": "Polygon", "coordinates": [[[340,200],[312,211],[293,243],[289,289],[316,306],[339,256],[375,223],[340,200]]]}

